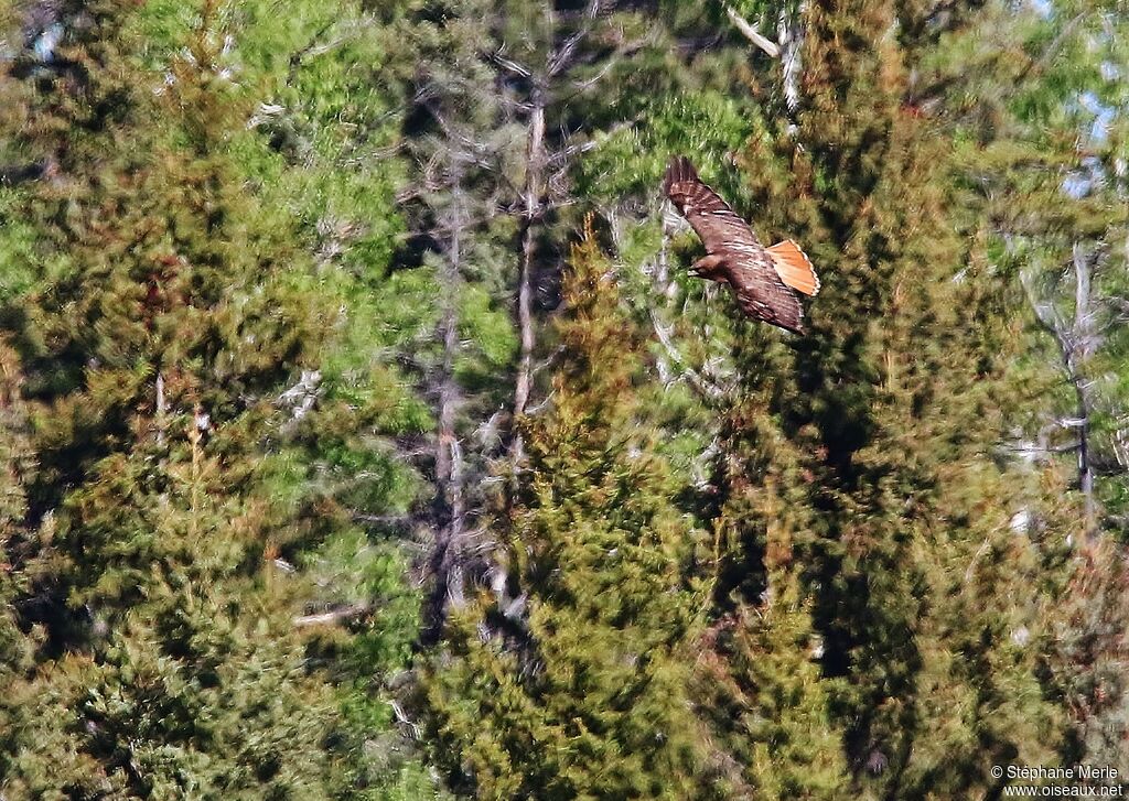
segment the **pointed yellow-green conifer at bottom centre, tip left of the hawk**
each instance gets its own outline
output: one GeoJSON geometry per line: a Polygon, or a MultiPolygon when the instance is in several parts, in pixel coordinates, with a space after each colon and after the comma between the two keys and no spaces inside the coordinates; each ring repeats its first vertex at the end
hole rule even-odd
{"type": "Polygon", "coordinates": [[[505,527],[505,590],[457,616],[427,681],[436,757],[480,798],[703,798],[686,681],[692,531],[634,429],[639,342],[589,234],[552,408],[505,527]],[[499,600],[501,598],[501,600],[499,600]]]}

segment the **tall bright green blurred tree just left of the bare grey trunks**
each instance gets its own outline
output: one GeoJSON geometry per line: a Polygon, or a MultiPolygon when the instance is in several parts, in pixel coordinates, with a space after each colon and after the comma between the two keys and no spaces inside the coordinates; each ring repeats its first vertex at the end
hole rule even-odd
{"type": "MultiPolygon", "coordinates": [[[[396,3],[290,8],[292,16],[279,16],[271,2],[242,3],[233,61],[239,81],[263,98],[248,120],[252,131],[234,144],[240,168],[264,205],[295,220],[317,293],[338,309],[316,370],[286,393],[296,446],[289,459],[314,466],[286,491],[307,495],[333,520],[324,544],[291,565],[309,588],[295,620],[308,633],[310,662],[338,688],[336,792],[431,798],[435,782],[392,696],[419,634],[411,563],[423,520],[414,512],[430,500],[428,465],[411,451],[421,450],[435,419],[431,397],[415,396],[412,378],[429,370],[428,327],[445,285],[430,270],[402,269],[408,248],[397,194],[408,170],[394,153],[420,147],[403,139],[410,112],[400,104],[420,53],[405,35],[410,9],[396,3]]],[[[481,296],[457,300],[465,324],[452,332],[455,341],[485,341],[463,346],[457,367],[464,377],[482,376],[491,364],[483,351],[505,360],[505,347],[490,337],[491,323],[506,315],[491,317],[481,296]]]]}

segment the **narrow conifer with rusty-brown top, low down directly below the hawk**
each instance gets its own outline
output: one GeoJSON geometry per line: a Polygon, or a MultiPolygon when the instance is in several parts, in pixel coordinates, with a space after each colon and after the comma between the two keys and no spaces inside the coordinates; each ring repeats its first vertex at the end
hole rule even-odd
{"type": "Polygon", "coordinates": [[[727,498],[715,522],[714,581],[715,589],[736,588],[720,599],[702,642],[698,703],[719,743],[715,759],[732,798],[833,799],[848,775],[831,706],[842,685],[823,675],[822,637],[794,554],[794,540],[804,536],[797,514],[804,476],[760,420],[768,403],[750,393],[727,421],[727,498]],[[735,458],[752,448],[754,458],[735,458]],[[750,552],[759,562],[730,561],[750,552]],[[745,575],[738,580],[735,569],[745,575]]]}

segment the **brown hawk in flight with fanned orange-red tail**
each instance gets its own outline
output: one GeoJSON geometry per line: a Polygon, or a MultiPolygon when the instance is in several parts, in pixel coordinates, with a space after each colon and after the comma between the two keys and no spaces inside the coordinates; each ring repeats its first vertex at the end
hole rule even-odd
{"type": "Polygon", "coordinates": [[[820,279],[799,246],[791,239],[761,245],[685,157],[671,159],[663,191],[706,246],[707,255],[694,262],[690,274],[729,284],[750,317],[803,334],[804,310],[796,292],[814,296],[820,279]]]}

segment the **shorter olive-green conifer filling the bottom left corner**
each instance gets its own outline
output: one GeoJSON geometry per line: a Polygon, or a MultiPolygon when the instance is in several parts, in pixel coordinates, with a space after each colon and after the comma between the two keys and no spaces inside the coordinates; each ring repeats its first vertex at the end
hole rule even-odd
{"type": "Polygon", "coordinates": [[[81,530],[105,536],[91,555],[143,543],[150,569],[129,607],[100,582],[85,605],[85,648],[41,667],[8,774],[14,798],[329,796],[333,697],[305,675],[273,565],[239,564],[277,518],[227,490],[187,422],[145,475],[107,457],[98,468],[114,474],[96,473],[68,501],[81,530]]]}

